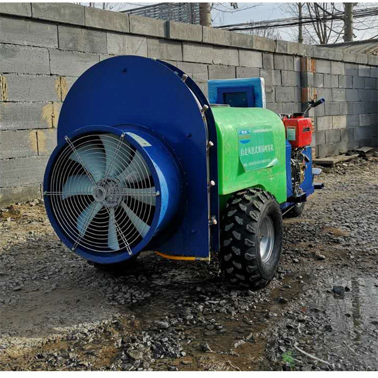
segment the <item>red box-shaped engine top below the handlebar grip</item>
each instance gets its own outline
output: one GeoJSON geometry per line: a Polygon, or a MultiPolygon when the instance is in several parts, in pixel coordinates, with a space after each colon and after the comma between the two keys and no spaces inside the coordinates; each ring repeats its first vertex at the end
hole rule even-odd
{"type": "Polygon", "coordinates": [[[283,119],[286,129],[286,139],[292,147],[306,147],[312,140],[312,121],[311,118],[295,116],[283,119]]]}

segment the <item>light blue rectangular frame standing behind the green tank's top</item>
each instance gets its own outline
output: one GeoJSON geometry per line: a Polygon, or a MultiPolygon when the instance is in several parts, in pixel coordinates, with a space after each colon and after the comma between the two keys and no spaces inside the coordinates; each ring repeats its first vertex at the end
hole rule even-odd
{"type": "Polygon", "coordinates": [[[265,87],[262,78],[209,80],[209,101],[224,104],[225,93],[245,92],[248,107],[265,107],[265,87]]]}

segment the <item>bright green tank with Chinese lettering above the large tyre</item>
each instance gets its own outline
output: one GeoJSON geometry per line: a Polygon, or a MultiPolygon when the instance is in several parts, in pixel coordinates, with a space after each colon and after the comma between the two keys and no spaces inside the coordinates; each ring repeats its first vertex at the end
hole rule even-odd
{"type": "Polygon", "coordinates": [[[262,187],[286,202],[285,128],[264,108],[212,107],[218,136],[219,195],[262,187]]]}

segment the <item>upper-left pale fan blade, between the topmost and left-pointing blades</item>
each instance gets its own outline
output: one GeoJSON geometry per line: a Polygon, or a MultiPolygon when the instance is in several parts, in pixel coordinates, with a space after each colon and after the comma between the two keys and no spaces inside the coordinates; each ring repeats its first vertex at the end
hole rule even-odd
{"type": "Polygon", "coordinates": [[[91,142],[85,143],[73,152],[70,159],[84,165],[95,181],[103,178],[106,167],[106,157],[103,150],[91,142]],[[79,158],[79,156],[80,158],[79,158]]]}

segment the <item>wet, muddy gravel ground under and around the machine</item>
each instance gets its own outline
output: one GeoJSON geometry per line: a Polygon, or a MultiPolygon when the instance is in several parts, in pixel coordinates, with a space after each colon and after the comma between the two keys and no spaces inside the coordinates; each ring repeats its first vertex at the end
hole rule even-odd
{"type": "Polygon", "coordinates": [[[378,369],[378,158],[321,179],[260,291],[225,285],[216,256],[101,272],[39,201],[1,210],[0,370],[378,369]]]}

